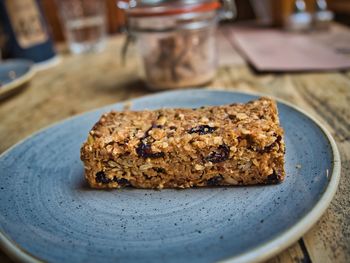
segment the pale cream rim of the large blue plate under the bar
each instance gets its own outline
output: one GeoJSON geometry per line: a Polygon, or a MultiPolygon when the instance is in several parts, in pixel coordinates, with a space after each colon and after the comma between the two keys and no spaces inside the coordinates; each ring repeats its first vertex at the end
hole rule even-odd
{"type": "MultiPolygon", "coordinates": [[[[339,150],[337,147],[337,144],[331,135],[331,133],[327,130],[324,124],[322,124],[318,119],[316,119],[314,116],[306,112],[305,110],[301,109],[298,106],[293,105],[292,103],[285,101],[284,99],[281,99],[279,97],[276,97],[271,94],[267,93],[261,93],[261,92],[254,92],[254,91],[242,91],[242,90],[225,90],[225,89],[213,89],[213,88],[206,88],[206,89],[185,89],[185,90],[171,90],[171,91],[162,91],[157,93],[152,93],[145,96],[140,96],[137,98],[127,99],[124,101],[120,101],[117,103],[109,104],[106,106],[98,107],[89,111],[82,112],[80,114],[65,118],[61,121],[55,122],[51,125],[45,126],[44,128],[39,129],[38,131],[34,132],[33,134],[25,137],[24,139],[18,141],[14,145],[12,145],[10,148],[5,150],[2,154],[0,154],[0,159],[3,158],[8,152],[12,151],[14,148],[19,146],[20,144],[24,143],[26,140],[38,135],[39,133],[52,128],[56,125],[60,125],[64,122],[70,121],[75,118],[79,118],[82,115],[92,113],[96,110],[108,108],[110,106],[113,106],[115,104],[123,105],[129,101],[135,101],[139,99],[147,99],[149,97],[156,97],[161,96],[165,93],[183,93],[183,92],[218,92],[218,93],[235,93],[235,94],[243,94],[243,95],[252,95],[252,96],[259,96],[259,97],[270,97],[274,99],[277,103],[281,103],[284,105],[287,105],[288,107],[292,108],[293,110],[305,115],[307,118],[309,118],[311,121],[313,121],[321,130],[321,132],[325,135],[326,139],[330,143],[331,150],[333,153],[333,160],[332,160],[332,174],[329,175],[329,181],[328,185],[325,189],[325,191],[322,193],[320,199],[317,201],[316,205],[307,212],[304,217],[302,217],[297,223],[295,223],[292,227],[287,229],[286,231],[279,234],[277,237],[264,242],[257,247],[248,250],[246,252],[240,253],[236,256],[228,257],[225,259],[220,260],[220,262],[225,263],[231,263],[231,262],[261,262],[264,260],[267,260],[282,250],[285,250],[292,244],[294,244],[300,237],[302,237],[310,228],[317,223],[317,221],[321,218],[321,216],[324,214],[326,209],[329,207],[331,201],[333,200],[333,197],[338,189],[340,176],[341,176],[341,158],[339,154],[339,150]]],[[[6,237],[6,234],[0,231],[0,247],[2,250],[12,259],[19,260],[21,262],[44,262],[43,260],[37,258],[36,256],[32,255],[30,252],[25,251],[22,249],[15,241],[11,240],[11,238],[6,237]]]]}

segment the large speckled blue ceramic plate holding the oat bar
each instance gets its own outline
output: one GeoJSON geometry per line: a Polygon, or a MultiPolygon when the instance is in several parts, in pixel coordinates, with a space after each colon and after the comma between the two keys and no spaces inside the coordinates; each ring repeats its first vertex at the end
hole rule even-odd
{"type": "MultiPolygon", "coordinates": [[[[257,98],[187,90],[132,101],[132,108],[198,107],[257,98]]],[[[51,126],[0,157],[0,241],[10,255],[49,262],[264,260],[295,242],[330,203],[339,181],[334,140],[279,102],[284,183],[188,190],[93,190],[79,150],[108,106],[51,126]]]]}

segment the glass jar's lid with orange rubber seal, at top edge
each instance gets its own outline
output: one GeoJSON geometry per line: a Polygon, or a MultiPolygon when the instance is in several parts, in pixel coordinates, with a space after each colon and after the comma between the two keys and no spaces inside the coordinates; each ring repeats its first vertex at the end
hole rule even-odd
{"type": "Polygon", "coordinates": [[[118,7],[129,16],[165,16],[208,12],[220,7],[218,0],[121,0],[118,7]]]}

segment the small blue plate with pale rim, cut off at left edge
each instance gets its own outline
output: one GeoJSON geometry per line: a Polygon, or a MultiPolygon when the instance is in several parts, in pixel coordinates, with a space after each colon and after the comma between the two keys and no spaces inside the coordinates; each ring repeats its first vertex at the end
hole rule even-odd
{"type": "Polygon", "coordinates": [[[0,98],[23,87],[34,75],[33,62],[24,59],[9,59],[0,63],[0,98]]]}

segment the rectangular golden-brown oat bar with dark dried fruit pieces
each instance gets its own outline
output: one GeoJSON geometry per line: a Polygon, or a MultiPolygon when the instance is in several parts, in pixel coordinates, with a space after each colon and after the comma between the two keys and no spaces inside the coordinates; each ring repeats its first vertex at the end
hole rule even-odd
{"type": "Polygon", "coordinates": [[[104,114],[81,148],[93,188],[275,184],[284,179],[276,103],[104,114]]]}

